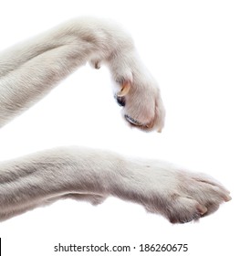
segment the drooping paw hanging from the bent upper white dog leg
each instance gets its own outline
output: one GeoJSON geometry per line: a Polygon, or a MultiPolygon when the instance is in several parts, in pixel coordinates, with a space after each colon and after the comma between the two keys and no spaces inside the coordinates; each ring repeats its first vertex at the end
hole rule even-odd
{"type": "Polygon", "coordinates": [[[130,51],[109,60],[113,80],[117,83],[115,98],[124,101],[122,116],[131,127],[143,131],[162,131],[165,110],[157,82],[130,51]]]}

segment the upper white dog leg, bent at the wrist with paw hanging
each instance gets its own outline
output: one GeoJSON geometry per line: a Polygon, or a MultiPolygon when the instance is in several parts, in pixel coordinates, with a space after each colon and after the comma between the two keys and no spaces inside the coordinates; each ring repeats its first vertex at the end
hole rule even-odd
{"type": "Polygon", "coordinates": [[[143,129],[162,129],[164,109],[158,86],[130,36],[112,22],[95,18],[68,21],[0,54],[0,127],[87,61],[93,61],[95,68],[100,61],[106,63],[120,90],[126,82],[131,85],[124,116],[146,124],[143,129]]]}

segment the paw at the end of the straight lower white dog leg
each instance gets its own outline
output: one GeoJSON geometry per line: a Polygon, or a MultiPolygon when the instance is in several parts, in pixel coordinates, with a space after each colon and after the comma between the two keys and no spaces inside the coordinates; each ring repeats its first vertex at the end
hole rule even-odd
{"type": "MultiPolygon", "coordinates": [[[[169,176],[167,174],[167,176],[169,176]]],[[[145,208],[162,213],[172,223],[185,223],[214,213],[223,202],[231,200],[229,191],[213,178],[178,172],[166,180],[165,188],[151,191],[145,208]]]]}

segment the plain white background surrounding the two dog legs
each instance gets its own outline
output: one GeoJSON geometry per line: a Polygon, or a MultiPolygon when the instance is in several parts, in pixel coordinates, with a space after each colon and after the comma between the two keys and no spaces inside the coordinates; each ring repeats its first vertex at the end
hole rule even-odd
{"type": "MultiPolygon", "coordinates": [[[[161,216],[148,214],[140,206],[116,198],[109,198],[98,207],[59,201],[2,222],[3,255],[58,255],[53,252],[58,242],[66,245],[107,242],[136,247],[141,243],[187,243],[189,251],[165,252],[166,255],[237,254],[240,229],[238,3],[210,0],[8,0],[1,3],[1,49],[74,16],[116,19],[130,31],[141,58],[159,81],[167,110],[162,133],[131,130],[121,119],[120,108],[113,100],[108,70],[86,66],[1,130],[1,160],[56,145],[107,148],[125,155],[159,158],[207,173],[231,190],[233,197],[214,215],[184,225],[172,225],[161,216]]],[[[158,253],[135,250],[102,255],[158,253]]],[[[93,254],[66,252],[66,255],[93,254]]]]}

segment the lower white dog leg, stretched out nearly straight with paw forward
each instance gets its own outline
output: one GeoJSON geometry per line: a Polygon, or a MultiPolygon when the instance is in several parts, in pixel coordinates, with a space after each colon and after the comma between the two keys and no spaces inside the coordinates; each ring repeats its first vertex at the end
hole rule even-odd
{"type": "Polygon", "coordinates": [[[86,148],[58,148],[28,155],[1,163],[0,172],[1,219],[59,198],[99,203],[92,199],[114,196],[141,204],[173,223],[187,222],[214,212],[231,198],[212,178],[162,162],[86,148]]]}

